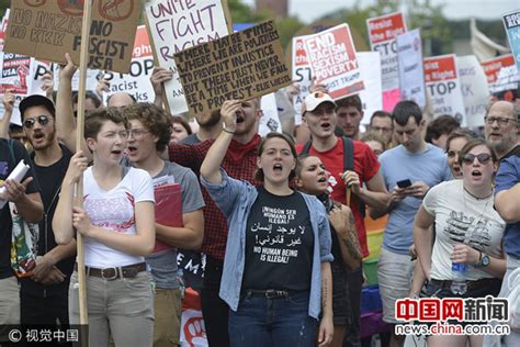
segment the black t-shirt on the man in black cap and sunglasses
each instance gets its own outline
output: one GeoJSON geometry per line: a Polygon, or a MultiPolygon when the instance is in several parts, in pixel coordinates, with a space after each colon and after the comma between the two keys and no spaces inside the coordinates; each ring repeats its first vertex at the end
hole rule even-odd
{"type": "MultiPolygon", "coordinates": [[[[50,166],[34,165],[36,177],[38,178],[38,182],[42,184],[42,191],[39,194],[42,195],[45,212],[44,219],[39,222],[38,256],[47,254],[57,245],[54,238],[53,216],[58,204],[61,181],[64,180],[70,157],[72,156],[67,147],[63,145],[60,145],[60,147],[61,159],[50,166]]],[[[34,159],[34,154],[31,157],[34,159]]],[[[57,286],[43,286],[36,283],[30,278],[22,278],[21,290],[25,293],[42,296],[68,292],[70,275],[74,271],[75,261],[76,257],[69,257],[63,259],[56,265],[56,267],[66,275],[66,280],[61,283],[57,286]]]]}

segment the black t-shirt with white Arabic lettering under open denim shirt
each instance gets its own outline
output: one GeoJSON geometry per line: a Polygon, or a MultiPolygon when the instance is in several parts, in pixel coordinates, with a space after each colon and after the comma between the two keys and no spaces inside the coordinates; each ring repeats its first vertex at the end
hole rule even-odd
{"type": "Polygon", "coordinates": [[[304,198],[257,190],[246,226],[242,289],[308,290],[314,234],[304,198]]]}

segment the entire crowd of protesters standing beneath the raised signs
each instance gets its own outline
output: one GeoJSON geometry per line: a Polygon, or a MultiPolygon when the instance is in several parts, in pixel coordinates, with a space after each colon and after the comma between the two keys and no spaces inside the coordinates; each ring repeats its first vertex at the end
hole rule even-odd
{"type": "MultiPolygon", "coordinates": [[[[0,210],[1,326],[79,323],[81,233],[91,346],[180,344],[178,249],[206,257],[200,296],[210,346],[361,346],[369,216],[386,221],[384,322],[402,323],[396,301],[419,295],[493,295],[520,310],[519,103],[489,102],[484,138],[414,101],[375,112],[363,132],[359,96],[332,100],[313,83],[302,124],[262,138],[259,99],[228,100],[195,127],[169,115],[161,83],[172,76],[155,68],[155,103],[118,92],[104,105],[106,81],[86,96],[77,149],[76,67],[66,59],[55,101],[48,93],[20,103],[21,128],[9,124],[13,94],[3,98],[0,199],[38,223],[39,239],[34,273],[18,279],[9,204],[0,210]],[[7,180],[20,159],[30,163],[26,177],[7,180]],[[74,202],[80,178],[82,208],[74,202]],[[169,183],[180,184],[174,226],[156,201],[169,183]],[[466,290],[456,292],[460,264],[466,290]]],[[[519,346],[518,316],[509,323],[507,336],[428,344],[519,346]]],[[[386,344],[403,346],[404,336],[386,344]]]]}

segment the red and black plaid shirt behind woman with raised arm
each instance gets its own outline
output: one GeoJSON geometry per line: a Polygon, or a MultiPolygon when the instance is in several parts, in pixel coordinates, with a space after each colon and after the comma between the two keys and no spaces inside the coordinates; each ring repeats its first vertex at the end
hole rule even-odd
{"type": "MultiPolygon", "coordinates": [[[[170,160],[191,168],[199,177],[202,161],[213,142],[213,139],[208,139],[195,145],[170,144],[168,149],[170,160]]],[[[244,154],[244,157],[238,161],[233,160],[229,155],[226,155],[222,167],[226,170],[229,177],[256,183],[253,180],[257,167],[256,161],[257,150],[253,149],[244,154]]],[[[210,198],[210,194],[204,187],[201,186],[201,190],[204,202],[206,203],[206,206],[203,210],[204,240],[201,250],[216,259],[224,260],[227,243],[226,217],[217,208],[215,202],[213,202],[212,198],[210,198]]]]}

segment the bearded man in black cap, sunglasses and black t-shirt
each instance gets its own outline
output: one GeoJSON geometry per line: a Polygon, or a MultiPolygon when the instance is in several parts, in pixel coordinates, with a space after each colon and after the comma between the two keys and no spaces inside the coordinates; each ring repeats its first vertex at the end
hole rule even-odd
{"type": "Polygon", "coordinates": [[[34,169],[42,186],[44,219],[39,222],[38,257],[31,278],[21,278],[22,324],[68,324],[68,289],[76,242],[57,245],[52,221],[71,153],[58,143],[54,103],[30,96],[20,103],[25,135],[34,152],[34,169]]]}

